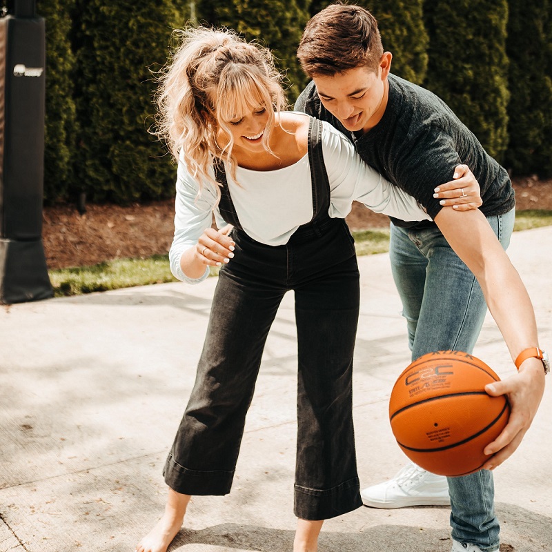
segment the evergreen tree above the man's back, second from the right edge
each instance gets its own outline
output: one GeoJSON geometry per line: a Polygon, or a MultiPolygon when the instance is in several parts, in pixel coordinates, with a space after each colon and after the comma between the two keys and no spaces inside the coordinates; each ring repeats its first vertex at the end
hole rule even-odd
{"type": "Polygon", "coordinates": [[[508,141],[506,0],[428,0],[426,88],[440,96],[490,155],[502,161],[508,141]]]}

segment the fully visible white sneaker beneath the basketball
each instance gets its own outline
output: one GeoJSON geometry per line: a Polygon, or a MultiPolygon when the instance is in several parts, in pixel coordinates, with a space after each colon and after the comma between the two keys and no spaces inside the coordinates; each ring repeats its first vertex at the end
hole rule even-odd
{"type": "MultiPolygon", "coordinates": [[[[371,508],[392,509],[451,504],[446,477],[429,473],[413,463],[404,466],[392,480],[367,487],[360,492],[360,496],[364,506],[371,508]]],[[[462,552],[464,551],[465,549],[462,549],[462,552]]]]}

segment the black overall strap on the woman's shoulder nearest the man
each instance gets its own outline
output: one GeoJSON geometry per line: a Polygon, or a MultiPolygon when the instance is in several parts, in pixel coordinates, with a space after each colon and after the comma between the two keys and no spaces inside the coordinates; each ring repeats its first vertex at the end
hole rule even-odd
{"type": "Polygon", "coordinates": [[[311,166],[313,190],[313,225],[317,230],[317,219],[326,218],[330,208],[330,181],[322,153],[322,121],[311,117],[308,128],[308,163],[311,166]]]}

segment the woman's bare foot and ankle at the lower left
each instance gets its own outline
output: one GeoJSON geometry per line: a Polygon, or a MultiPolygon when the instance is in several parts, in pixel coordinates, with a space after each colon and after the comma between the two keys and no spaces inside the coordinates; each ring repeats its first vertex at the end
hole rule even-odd
{"type": "Polygon", "coordinates": [[[180,531],[190,498],[190,495],[181,495],[169,489],[165,513],[155,527],[139,542],[135,552],[166,552],[168,545],[180,531]]]}

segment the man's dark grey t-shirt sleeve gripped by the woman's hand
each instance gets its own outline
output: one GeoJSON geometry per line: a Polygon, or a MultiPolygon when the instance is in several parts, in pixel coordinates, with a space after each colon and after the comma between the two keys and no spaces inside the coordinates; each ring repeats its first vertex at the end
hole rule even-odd
{"type": "Polygon", "coordinates": [[[455,167],[463,161],[451,135],[434,124],[422,128],[409,143],[413,145],[405,144],[402,152],[397,152],[395,179],[435,219],[443,206],[433,197],[434,190],[451,181],[455,167]]]}

